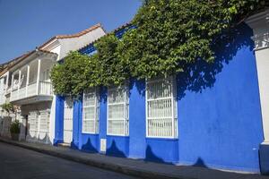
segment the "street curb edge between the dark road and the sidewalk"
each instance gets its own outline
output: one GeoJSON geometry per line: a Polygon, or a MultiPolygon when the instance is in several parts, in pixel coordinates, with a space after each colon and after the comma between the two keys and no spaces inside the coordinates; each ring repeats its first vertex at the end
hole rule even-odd
{"type": "Polygon", "coordinates": [[[30,149],[30,150],[34,150],[34,151],[37,151],[40,153],[48,154],[50,156],[54,156],[57,158],[64,158],[64,159],[71,160],[71,161],[78,162],[78,163],[82,163],[82,164],[85,164],[88,166],[95,166],[95,167],[99,167],[102,169],[110,170],[110,171],[125,174],[125,175],[133,175],[133,176],[142,177],[142,178],[154,178],[154,179],[194,179],[194,178],[187,177],[187,176],[167,175],[167,174],[163,174],[163,173],[151,172],[151,171],[147,171],[147,170],[143,170],[143,169],[137,169],[137,168],[130,167],[130,166],[121,166],[121,165],[117,165],[117,164],[105,163],[105,162],[101,162],[101,161],[97,161],[97,160],[89,159],[89,158],[74,157],[74,156],[64,154],[61,152],[57,152],[57,151],[52,151],[52,150],[48,150],[48,149],[41,149],[38,147],[32,147],[29,145],[25,145],[19,141],[4,140],[1,138],[0,138],[0,141],[14,145],[14,146],[18,146],[18,147],[21,147],[24,149],[30,149]]]}

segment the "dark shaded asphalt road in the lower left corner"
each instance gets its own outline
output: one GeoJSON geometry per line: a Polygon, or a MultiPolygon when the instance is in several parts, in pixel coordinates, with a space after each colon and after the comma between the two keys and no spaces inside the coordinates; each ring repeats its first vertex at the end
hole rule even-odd
{"type": "Polygon", "coordinates": [[[135,179],[0,142],[0,179],[135,179]]]}

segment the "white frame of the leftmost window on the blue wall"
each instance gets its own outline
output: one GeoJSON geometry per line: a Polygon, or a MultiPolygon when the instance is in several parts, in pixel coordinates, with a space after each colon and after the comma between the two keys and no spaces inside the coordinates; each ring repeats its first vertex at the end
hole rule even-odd
{"type": "MultiPolygon", "coordinates": [[[[98,134],[100,132],[100,95],[99,95],[99,92],[98,92],[98,89],[97,88],[93,88],[93,89],[89,89],[90,91],[93,90],[92,92],[88,92],[88,93],[85,93],[85,91],[87,90],[84,90],[83,91],[83,98],[82,98],[82,133],[86,133],[86,134],[98,134]],[[93,93],[94,94],[94,106],[84,106],[84,98],[85,98],[85,94],[91,94],[93,93]],[[84,111],[84,108],[87,108],[87,107],[94,107],[94,119],[85,119],[84,116],[85,116],[85,111],[84,111]],[[94,132],[86,132],[84,131],[84,122],[85,121],[94,121],[94,132]],[[97,128],[98,127],[98,128],[97,128]]],[[[88,90],[88,91],[89,91],[88,90]]]]}

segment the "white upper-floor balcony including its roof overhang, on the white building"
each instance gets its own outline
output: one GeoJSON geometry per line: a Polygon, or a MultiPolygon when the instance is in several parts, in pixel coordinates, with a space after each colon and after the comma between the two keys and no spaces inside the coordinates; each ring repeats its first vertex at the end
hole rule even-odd
{"type": "Polygon", "coordinates": [[[52,100],[49,72],[56,57],[55,53],[37,49],[11,65],[0,77],[0,103],[27,105],[52,100]]]}

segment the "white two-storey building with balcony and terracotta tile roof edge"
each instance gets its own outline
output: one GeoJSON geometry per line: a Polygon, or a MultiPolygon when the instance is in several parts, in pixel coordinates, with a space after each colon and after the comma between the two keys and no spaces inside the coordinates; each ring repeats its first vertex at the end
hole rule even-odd
{"type": "MultiPolygon", "coordinates": [[[[49,79],[51,67],[71,50],[105,35],[100,24],[74,35],[50,38],[35,50],[13,60],[1,72],[1,104],[18,107],[13,119],[21,121],[21,140],[52,143],[55,129],[55,97],[49,79]]],[[[9,135],[12,118],[2,115],[2,135],[9,135]]]]}

